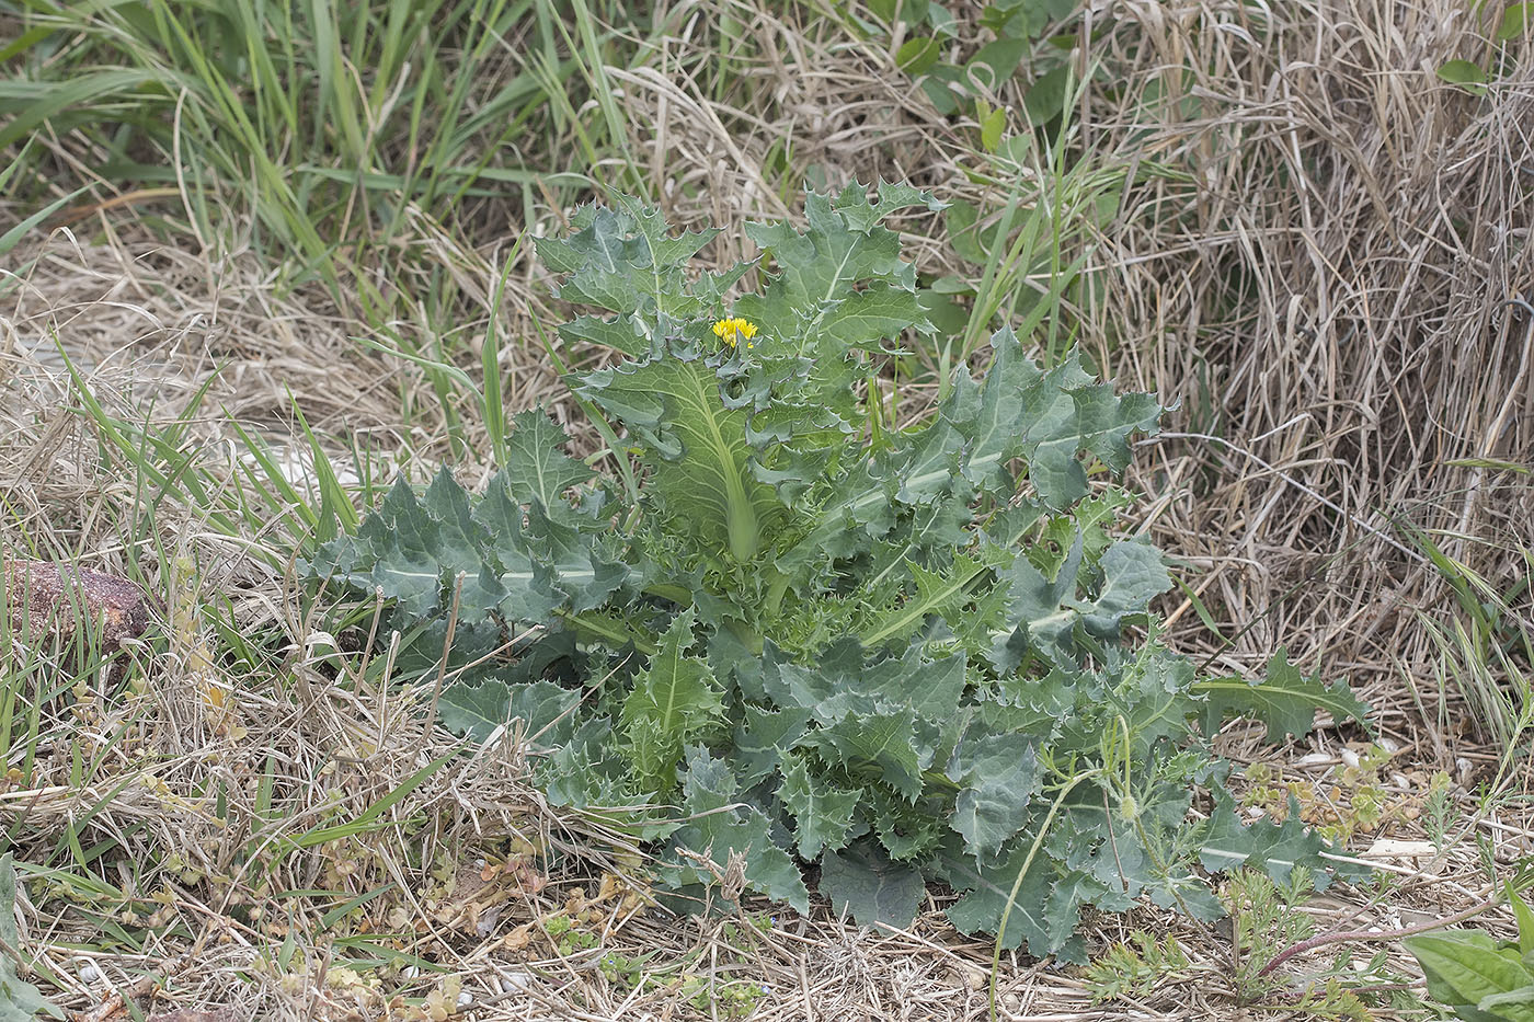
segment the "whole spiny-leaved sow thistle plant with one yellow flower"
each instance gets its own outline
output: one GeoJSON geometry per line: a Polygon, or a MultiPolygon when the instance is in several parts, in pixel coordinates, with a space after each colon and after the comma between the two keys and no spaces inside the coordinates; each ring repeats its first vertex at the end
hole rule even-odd
{"type": "Polygon", "coordinates": [[[716,232],[583,207],[538,256],[595,310],[563,341],[618,354],[568,377],[611,471],[528,411],[485,493],[399,482],[310,571],[387,597],[422,671],[456,612],[442,718],[525,721],[551,801],[647,842],[696,904],[735,853],[747,890],[805,912],[813,864],[861,924],[908,925],[939,882],[959,930],[1005,916],[1005,947],[1080,959],[1088,905],[1215,916],[1204,873],[1239,865],[1324,884],[1298,813],[1238,816],[1209,737],[1364,707],[1282,654],[1259,681],[1200,677],[1158,638],[1170,579],[1108,483],[1157,399],[1003,328],[897,425],[881,364],[934,333],[884,226],[913,207],[940,204],[811,192],[805,230],[747,226],[759,262],[723,273],[689,270],[716,232]]]}

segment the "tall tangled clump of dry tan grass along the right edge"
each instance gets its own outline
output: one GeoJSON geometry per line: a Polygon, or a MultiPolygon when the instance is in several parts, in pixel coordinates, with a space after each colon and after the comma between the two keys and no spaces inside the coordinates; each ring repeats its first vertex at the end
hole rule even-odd
{"type": "Polygon", "coordinates": [[[1097,153],[1144,153],[1091,312],[1104,362],[1183,404],[1141,465],[1181,493],[1163,542],[1253,625],[1236,663],[1319,657],[1391,730],[1393,678],[1434,689],[1417,611],[1451,603],[1396,522],[1502,591],[1534,546],[1528,477],[1483,463],[1534,451],[1534,51],[1491,14],[1120,5],[1097,55],[1124,84],[1088,106],[1097,153]],[[1471,95],[1434,74],[1459,57],[1503,74],[1471,95]]]}

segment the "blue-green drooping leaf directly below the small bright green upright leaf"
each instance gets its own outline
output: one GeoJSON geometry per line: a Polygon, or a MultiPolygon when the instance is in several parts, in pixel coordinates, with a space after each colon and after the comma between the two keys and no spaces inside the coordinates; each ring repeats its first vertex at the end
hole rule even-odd
{"type": "MultiPolygon", "coordinates": [[[[808,912],[810,892],[793,856],[773,842],[772,823],[761,809],[738,803],[738,787],[724,760],[713,758],[703,746],[687,749],[687,767],[681,775],[681,807],[687,821],[672,841],[707,855],[721,872],[730,852],[739,852],[746,856],[746,882],[752,890],[808,912]]],[[[712,881],[684,859],[678,859],[678,865],[683,882],[712,881]]]]}

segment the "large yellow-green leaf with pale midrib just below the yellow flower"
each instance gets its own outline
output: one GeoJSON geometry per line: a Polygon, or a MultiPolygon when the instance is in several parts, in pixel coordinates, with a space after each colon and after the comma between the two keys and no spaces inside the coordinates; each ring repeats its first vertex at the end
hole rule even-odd
{"type": "Polygon", "coordinates": [[[752,473],[747,413],[726,408],[701,351],[670,350],[589,374],[580,393],[629,427],[653,474],[647,496],[706,549],[750,562],[784,516],[752,473]]]}

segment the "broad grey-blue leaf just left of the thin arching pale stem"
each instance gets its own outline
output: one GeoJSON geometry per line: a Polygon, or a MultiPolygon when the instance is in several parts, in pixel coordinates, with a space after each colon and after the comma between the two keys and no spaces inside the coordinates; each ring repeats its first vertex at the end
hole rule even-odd
{"type": "Polygon", "coordinates": [[[1037,740],[1026,734],[968,735],[954,749],[948,778],[960,784],[950,826],[965,852],[991,855],[1028,823],[1039,792],[1037,740]]]}

